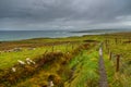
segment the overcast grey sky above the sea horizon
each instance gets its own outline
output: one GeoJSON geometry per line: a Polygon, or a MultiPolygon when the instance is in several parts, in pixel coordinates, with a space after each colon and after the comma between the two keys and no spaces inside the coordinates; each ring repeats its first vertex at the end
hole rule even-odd
{"type": "Polygon", "coordinates": [[[0,30],[130,27],[131,0],[0,0],[0,30]]]}

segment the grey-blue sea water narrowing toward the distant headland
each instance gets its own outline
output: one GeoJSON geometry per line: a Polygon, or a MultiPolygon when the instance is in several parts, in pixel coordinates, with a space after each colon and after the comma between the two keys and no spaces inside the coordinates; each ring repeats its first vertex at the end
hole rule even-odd
{"type": "MultiPolygon", "coordinates": [[[[94,34],[94,33],[92,33],[94,34]]],[[[0,30],[0,41],[22,40],[31,38],[59,38],[91,35],[91,33],[71,33],[63,30],[0,30]]]]}

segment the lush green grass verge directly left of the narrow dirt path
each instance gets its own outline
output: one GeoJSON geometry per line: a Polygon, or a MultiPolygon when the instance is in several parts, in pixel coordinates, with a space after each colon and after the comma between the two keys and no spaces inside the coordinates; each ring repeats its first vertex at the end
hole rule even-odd
{"type": "Polygon", "coordinates": [[[84,50],[72,59],[69,67],[73,73],[64,83],[64,87],[98,87],[98,51],[96,51],[96,47],[84,50]]]}

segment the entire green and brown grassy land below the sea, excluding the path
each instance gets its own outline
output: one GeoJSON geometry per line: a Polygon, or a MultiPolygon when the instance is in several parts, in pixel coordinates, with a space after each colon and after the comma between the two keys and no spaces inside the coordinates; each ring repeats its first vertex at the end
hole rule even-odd
{"type": "Polygon", "coordinates": [[[0,87],[47,87],[50,76],[53,87],[98,87],[100,42],[109,87],[131,87],[130,37],[131,33],[119,33],[0,42],[0,87]],[[10,51],[14,48],[21,50],[10,51]],[[27,58],[35,64],[27,64],[27,58]]]}

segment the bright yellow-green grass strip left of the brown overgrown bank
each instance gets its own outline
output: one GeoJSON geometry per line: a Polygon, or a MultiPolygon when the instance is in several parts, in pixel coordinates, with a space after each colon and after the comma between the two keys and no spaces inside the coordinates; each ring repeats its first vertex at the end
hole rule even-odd
{"type": "MultiPolygon", "coordinates": [[[[76,47],[78,45],[73,45],[76,47]]],[[[0,54],[0,69],[7,69],[13,66],[17,63],[17,60],[25,61],[26,58],[35,59],[39,55],[43,55],[45,52],[52,52],[52,51],[62,51],[68,52],[72,50],[72,45],[59,45],[59,46],[46,46],[46,47],[38,47],[34,50],[28,50],[27,48],[22,49],[19,52],[3,52],[0,54]]]]}

